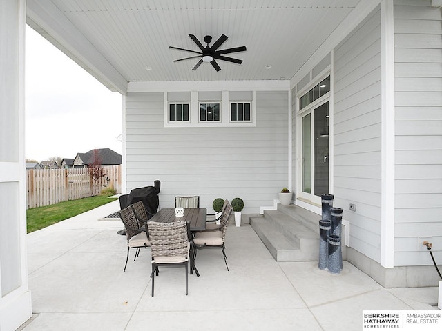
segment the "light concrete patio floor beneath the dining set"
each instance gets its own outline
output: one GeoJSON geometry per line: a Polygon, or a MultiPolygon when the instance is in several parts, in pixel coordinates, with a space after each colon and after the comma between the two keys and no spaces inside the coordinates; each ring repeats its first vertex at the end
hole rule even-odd
{"type": "Polygon", "coordinates": [[[344,262],[276,262],[249,224],[229,225],[219,249],[198,252],[200,277],[160,268],[151,297],[150,250],[126,272],[121,221],[97,221],[117,201],[28,234],[35,316],[19,330],[361,330],[363,310],[439,310],[438,288],[386,289],[344,262]]]}

